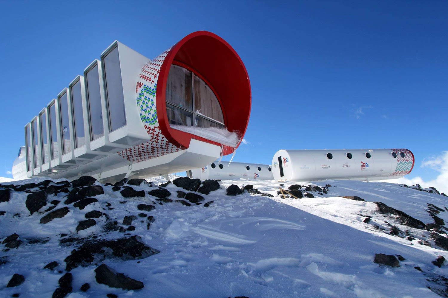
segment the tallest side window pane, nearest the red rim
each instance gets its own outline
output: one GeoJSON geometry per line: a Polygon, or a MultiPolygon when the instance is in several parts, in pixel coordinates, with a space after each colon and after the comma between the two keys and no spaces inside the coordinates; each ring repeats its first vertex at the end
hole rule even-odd
{"type": "Polygon", "coordinates": [[[104,57],[104,73],[109,109],[109,129],[113,131],[126,125],[125,99],[121,83],[118,47],[115,47],[104,57]]]}

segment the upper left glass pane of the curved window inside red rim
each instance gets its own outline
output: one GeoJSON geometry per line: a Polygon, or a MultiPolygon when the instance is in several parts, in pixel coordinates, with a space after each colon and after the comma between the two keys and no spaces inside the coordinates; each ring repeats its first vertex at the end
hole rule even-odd
{"type": "Polygon", "coordinates": [[[171,65],[168,74],[166,101],[193,111],[191,71],[171,65]]]}

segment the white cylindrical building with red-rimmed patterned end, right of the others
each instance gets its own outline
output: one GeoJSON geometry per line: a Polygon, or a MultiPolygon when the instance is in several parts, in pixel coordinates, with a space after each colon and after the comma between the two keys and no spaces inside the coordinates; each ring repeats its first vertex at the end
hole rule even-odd
{"type": "Polygon", "coordinates": [[[272,174],[277,181],[394,179],[409,174],[414,162],[408,149],[280,150],[272,174]]]}

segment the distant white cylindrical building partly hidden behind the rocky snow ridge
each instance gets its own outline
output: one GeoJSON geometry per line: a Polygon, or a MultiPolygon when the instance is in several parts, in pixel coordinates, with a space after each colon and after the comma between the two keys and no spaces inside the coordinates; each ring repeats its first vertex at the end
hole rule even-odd
{"type": "Polygon", "coordinates": [[[272,168],[268,164],[248,164],[222,161],[207,164],[202,168],[191,170],[193,178],[201,180],[220,179],[220,180],[236,180],[236,179],[261,179],[272,180],[272,168]]]}

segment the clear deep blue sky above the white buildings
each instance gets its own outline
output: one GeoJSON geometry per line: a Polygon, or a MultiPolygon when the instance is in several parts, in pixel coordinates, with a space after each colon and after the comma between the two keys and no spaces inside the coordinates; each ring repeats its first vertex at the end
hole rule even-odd
{"type": "Polygon", "coordinates": [[[0,1],[0,176],[25,124],[115,39],[152,59],[197,30],[229,42],[249,72],[248,143],[233,160],[405,147],[409,178],[448,165],[428,166],[448,150],[448,1],[160,2],[0,1]]]}

